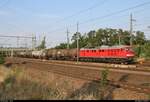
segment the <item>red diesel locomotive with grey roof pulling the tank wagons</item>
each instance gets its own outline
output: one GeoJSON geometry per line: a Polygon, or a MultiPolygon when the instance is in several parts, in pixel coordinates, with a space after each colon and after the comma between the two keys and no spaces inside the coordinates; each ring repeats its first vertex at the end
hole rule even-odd
{"type": "Polygon", "coordinates": [[[113,46],[94,49],[80,49],[80,60],[99,62],[133,62],[134,51],[131,46],[113,46]]]}

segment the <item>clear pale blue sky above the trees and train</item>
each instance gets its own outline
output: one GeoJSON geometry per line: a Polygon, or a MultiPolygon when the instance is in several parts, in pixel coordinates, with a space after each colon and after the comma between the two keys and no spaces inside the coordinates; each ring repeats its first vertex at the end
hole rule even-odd
{"type": "MultiPolygon", "coordinates": [[[[147,27],[150,26],[150,4],[103,17],[144,2],[150,0],[0,0],[0,35],[35,34],[38,42],[46,35],[47,46],[52,47],[66,41],[67,27],[71,37],[77,22],[82,34],[106,27],[129,30],[129,17],[133,13],[134,30],[142,30],[150,38],[147,27]],[[90,22],[85,23],[89,19],[90,22]]],[[[20,40],[20,44],[25,41],[30,45],[31,41],[25,39],[20,40]]],[[[15,45],[16,39],[0,38],[0,44],[3,43],[15,45]]]]}

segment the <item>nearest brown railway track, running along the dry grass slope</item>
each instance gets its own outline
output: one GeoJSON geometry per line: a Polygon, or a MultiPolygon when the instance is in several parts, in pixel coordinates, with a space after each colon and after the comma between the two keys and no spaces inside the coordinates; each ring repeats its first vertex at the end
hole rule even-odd
{"type": "MultiPolygon", "coordinates": [[[[38,68],[38,70],[43,70],[42,68],[38,68]]],[[[92,81],[94,82],[95,84],[99,84],[100,83],[100,78],[96,78],[96,77],[92,77],[91,75],[85,75],[83,73],[66,73],[66,71],[60,71],[60,70],[45,70],[45,71],[49,71],[49,72],[52,72],[52,73],[56,73],[56,74],[59,74],[59,75],[63,75],[63,76],[68,76],[68,77],[73,77],[73,78],[78,78],[78,79],[83,79],[83,80],[87,80],[87,81],[92,81]]],[[[110,80],[107,80],[108,84],[109,85],[112,85],[113,87],[117,87],[117,88],[124,88],[124,89],[128,89],[128,90],[132,90],[132,91],[137,91],[137,92],[140,92],[140,93],[146,93],[146,94],[149,94],[150,93],[150,89],[148,88],[145,88],[145,87],[139,87],[139,86],[136,86],[136,85],[131,85],[131,84],[127,84],[127,83],[123,83],[123,82],[115,82],[115,81],[110,81],[110,80]]]]}

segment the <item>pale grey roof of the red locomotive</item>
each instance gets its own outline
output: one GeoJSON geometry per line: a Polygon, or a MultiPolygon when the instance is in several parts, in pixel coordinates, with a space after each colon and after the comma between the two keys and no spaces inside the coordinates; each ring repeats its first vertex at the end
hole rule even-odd
{"type": "Polygon", "coordinates": [[[82,48],[81,50],[96,50],[96,49],[121,49],[121,48],[129,48],[131,46],[120,45],[120,46],[101,46],[97,48],[82,48]]]}

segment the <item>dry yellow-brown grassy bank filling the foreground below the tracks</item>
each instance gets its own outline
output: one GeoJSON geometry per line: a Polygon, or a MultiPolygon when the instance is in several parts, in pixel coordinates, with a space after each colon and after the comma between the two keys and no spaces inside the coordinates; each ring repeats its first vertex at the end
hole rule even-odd
{"type": "MultiPolygon", "coordinates": [[[[0,76],[3,76],[3,83],[0,85],[0,100],[99,100],[101,97],[100,85],[50,72],[0,67],[0,76]]],[[[111,87],[106,87],[106,90],[109,92],[109,99],[147,99],[136,93],[133,93],[134,97],[132,92],[129,97],[126,97],[129,92],[126,93],[125,90],[116,92],[111,87]],[[141,98],[138,98],[139,96],[141,98]]]]}

